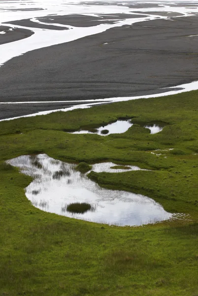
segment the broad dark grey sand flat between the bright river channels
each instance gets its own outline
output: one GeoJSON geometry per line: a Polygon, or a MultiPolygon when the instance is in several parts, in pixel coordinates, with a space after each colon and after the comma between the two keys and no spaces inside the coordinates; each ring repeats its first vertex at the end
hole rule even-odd
{"type": "Polygon", "coordinates": [[[157,19],[28,52],[0,68],[0,101],[159,93],[198,79],[196,34],[197,16],[157,19]]]}

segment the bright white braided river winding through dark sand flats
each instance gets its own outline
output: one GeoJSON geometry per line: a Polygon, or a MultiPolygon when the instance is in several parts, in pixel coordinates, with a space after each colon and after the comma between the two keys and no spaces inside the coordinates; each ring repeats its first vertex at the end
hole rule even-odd
{"type": "MultiPolygon", "coordinates": [[[[15,40],[13,42],[9,41],[3,44],[0,43],[0,65],[1,67],[6,66],[7,62],[14,57],[24,55],[33,50],[61,43],[68,43],[84,37],[95,36],[97,34],[104,33],[107,30],[123,28],[123,26],[127,28],[127,26],[133,26],[134,24],[141,22],[147,22],[149,26],[150,21],[160,19],[166,20],[174,26],[177,18],[181,19],[192,17],[197,14],[198,0],[124,0],[121,2],[116,0],[100,0],[96,2],[93,0],[56,0],[56,2],[50,0],[0,0],[0,28],[1,26],[2,28],[4,28],[3,26],[7,26],[7,28],[9,28],[5,30],[0,29],[1,43],[4,40],[3,38],[11,36],[10,34],[15,36],[16,34],[19,34],[19,30],[22,29],[28,30],[32,34],[29,37],[23,36],[22,39],[15,40]],[[71,17],[69,18],[69,16],[71,17]],[[63,21],[63,17],[67,17],[68,24],[65,20],[63,21]],[[77,22],[79,17],[83,19],[83,24],[82,21],[77,22]],[[73,21],[74,18],[76,23],[73,21]]],[[[26,35],[28,36],[28,34],[26,35]]],[[[194,32],[193,35],[188,35],[187,37],[189,38],[189,42],[190,40],[191,42],[192,40],[194,40],[193,42],[197,42],[197,36],[198,32],[197,34],[194,32]]],[[[108,40],[103,44],[103,46],[107,45],[108,40]]],[[[21,67],[23,68],[23,66],[21,67]]],[[[30,66],[31,72],[33,67],[37,66],[30,66]]],[[[18,74],[20,74],[20,72],[17,72],[15,76],[18,76],[18,74]]],[[[30,77],[30,79],[32,78],[30,77]]],[[[49,100],[46,98],[45,100],[39,100],[39,97],[37,96],[37,99],[34,98],[33,101],[31,101],[31,97],[27,97],[27,99],[20,101],[20,94],[15,100],[4,100],[3,96],[6,98],[7,93],[6,86],[3,81],[4,80],[1,81],[0,85],[0,108],[6,111],[6,108],[12,108],[13,110],[17,108],[23,109],[26,105],[26,111],[19,111],[17,114],[22,114],[20,116],[13,115],[9,118],[3,118],[1,120],[47,114],[60,110],[68,111],[78,108],[89,108],[93,105],[101,103],[160,97],[198,89],[198,82],[192,81],[191,83],[183,83],[174,87],[166,88],[165,90],[159,89],[159,92],[155,94],[145,94],[143,96],[106,97],[89,100],[82,99],[80,100],[79,105],[77,103],[78,101],[72,99],[69,100],[68,98],[66,100],[63,98],[61,100],[58,100],[57,98],[56,100],[51,98],[49,100]],[[64,103],[66,103],[69,107],[57,108],[59,106],[63,106],[64,103]],[[46,106],[49,104],[51,105],[47,108],[46,106]],[[15,105],[16,107],[14,107],[15,105]],[[33,112],[33,106],[35,107],[35,112],[33,112]],[[40,106],[40,108],[36,109],[36,106],[40,106]],[[30,109],[30,113],[27,111],[28,108],[30,109]]],[[[7,83],[7,80],[4,82],[7,83]]],[[[18,86],[16,85],[16,82],[13,83],[13,86],[16,87],[15,89],[17,91],[17,89],[20,88],[21,82],[18,86]]],[[[26,84],[27,83],[24,84],[25,86],[23,86],[23,88],[27,87],[26,84]]]]}

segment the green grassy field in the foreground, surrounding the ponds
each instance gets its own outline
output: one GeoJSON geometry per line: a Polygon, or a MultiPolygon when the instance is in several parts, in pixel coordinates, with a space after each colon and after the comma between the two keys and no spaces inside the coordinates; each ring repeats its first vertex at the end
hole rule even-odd
{"type": "Polygon", "coordinates": [[[0,295],[198,296],[198,91],[0,122],[0,295]],[[135,124],[66,133],[119,118],[135,124]],[[141,126],[152,121],[166,126],[151,135],[141,126]],[[31,178],[4,162],[37,153],[150,169],[89,177],[186,216],[117,227],[40,211],[25,196],[31,178]]]}

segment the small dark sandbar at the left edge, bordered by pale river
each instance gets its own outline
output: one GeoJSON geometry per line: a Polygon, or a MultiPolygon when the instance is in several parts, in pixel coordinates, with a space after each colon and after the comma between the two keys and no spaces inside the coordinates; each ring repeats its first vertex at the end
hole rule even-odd
{"type": "Polygon", "coordinates": [[[34,34],[31,30],[14,28],[12,31],[9,31],[9,29],[11,28],[7,26],[0,26],[0,32],[6,32],[5,34],[0,34],[0,44],[24,39],[34,34]]]}

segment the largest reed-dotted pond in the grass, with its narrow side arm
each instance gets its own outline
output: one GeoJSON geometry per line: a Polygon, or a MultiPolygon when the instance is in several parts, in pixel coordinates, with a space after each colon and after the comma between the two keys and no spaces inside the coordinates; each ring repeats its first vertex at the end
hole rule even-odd
{"type": "MultiPolygon", "coordinates": [[[[167,220],[172,214],[146,196],[121,190],[101,188],[86,174],[75,170],[76,165],[50,158],[46,154],[23,155],[7,161],[20,171],[33,177],[26,187],[26,196],[32,204],[46,212],[66,217],[107,224],[141,225],[167,220]],[[90,209],[84,213],[67,211],[70,204],[86,203],[90,209]]],[[[111,169],[113,163],[92,166],[95,172],[123,172],[140,168],[111,169]]]]}

